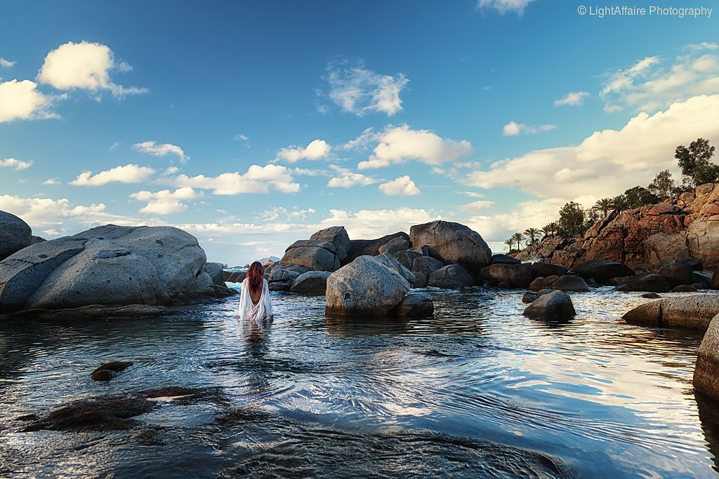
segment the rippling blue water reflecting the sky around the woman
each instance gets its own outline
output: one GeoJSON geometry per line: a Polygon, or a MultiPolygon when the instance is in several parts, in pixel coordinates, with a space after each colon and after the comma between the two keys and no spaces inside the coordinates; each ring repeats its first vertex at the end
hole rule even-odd
{"type": "Polygon", "coordinates": [[[427,320],[326,318],[273,293],[267,334],[237,298],[146,320],[0,325],[0,477],[715,477],[719,406],[692,389],[695,332],[627,325],[648,301],[572,294],[574,320],[521,316],[521,292],[429,290],[427,320]],[[134,365],[109,383],[89,373],[134,365]],[[21,432],[26,414],[160,386],[113,432],[21,432]],[[699,404],[697,404],[697,399],[699,404]]]}

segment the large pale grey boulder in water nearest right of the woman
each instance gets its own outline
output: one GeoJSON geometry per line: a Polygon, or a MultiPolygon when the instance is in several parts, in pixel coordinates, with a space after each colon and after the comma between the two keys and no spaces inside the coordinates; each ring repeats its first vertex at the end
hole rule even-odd
{"type": "Polygon", "coordinates": [[[395,269],[372,256],[359,256],[327,279],[327,314],[387,316],[400,304],[410,284],[395,269]]]}

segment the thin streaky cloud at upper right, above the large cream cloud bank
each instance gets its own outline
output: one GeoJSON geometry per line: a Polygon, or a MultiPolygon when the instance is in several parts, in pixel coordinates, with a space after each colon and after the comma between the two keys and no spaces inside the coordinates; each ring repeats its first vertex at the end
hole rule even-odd
{"type": "Polygon", "coordinates": [[[701,45],[690,46],[672,61],[646,57],[608,74],[600,92],[605,111],[628,107],[654,113],[692,96],[719,93],[719,56],[702,55],[714,44],[701,45]]]}

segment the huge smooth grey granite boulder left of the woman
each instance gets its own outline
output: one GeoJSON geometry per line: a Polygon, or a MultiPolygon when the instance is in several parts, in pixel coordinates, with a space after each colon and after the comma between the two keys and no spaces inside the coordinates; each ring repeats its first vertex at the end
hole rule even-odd
{"type": "Polygon", "coordinates": [[[197,239],[168,226],[92,228],[0,261],[0,312],[216,297],[197,239]]]}

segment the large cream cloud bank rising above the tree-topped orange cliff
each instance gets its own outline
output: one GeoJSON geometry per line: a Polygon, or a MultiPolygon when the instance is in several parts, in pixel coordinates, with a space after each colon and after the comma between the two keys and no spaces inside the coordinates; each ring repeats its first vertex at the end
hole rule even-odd
{"type": "Polygon", "coordinates": [[[719,141],[719,95],[674,103],[667,111],[640,113],[620,130],[595,131],[579,146],[539,149],[503,159],[468,175],[475,187],[511,187],[539,197],[571,200],[618,195],[648,185],[657,172],[677,172],[674,149],[698,137],[719,141]]]}

